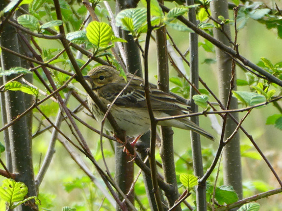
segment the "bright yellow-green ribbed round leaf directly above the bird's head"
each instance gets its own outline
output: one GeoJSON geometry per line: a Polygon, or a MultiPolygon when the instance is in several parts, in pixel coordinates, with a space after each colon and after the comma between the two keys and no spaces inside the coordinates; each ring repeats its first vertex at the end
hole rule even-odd
{"type": "Polygon", "coordinates": [[[86,36],[97,48],[106,47],[111,42],[113,32],[109,24],[92,21],[86,27],[86,36]]]}

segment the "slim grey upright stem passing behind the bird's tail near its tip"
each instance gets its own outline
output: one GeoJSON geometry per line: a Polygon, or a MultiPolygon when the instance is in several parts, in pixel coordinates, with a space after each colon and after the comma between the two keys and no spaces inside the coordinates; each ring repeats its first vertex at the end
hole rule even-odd
{"type": "MultiPolygon", "coordinates": [[[[194,4],[194,0],[186,0],[187,5],[194,4]]],[[[197,25],[195,8],[190,8],[188,12],[188,19],[193,24],[197,25]]],[[[197,88],[199,87],[199,53],[198,53],[198,35],[196,33],[190,33],[190,80],[197,88]]],[[[192,112],[198,112],[198,106],[194,103],[192,97],[198,94],[196,90],[190,86],[190,102],[192,112]]],[[[190,118],[191,121],[199,125],[199,117],[194,116],[190,118]]],[[[203,160],[202,160],[202,148],[200,142],[200,135],[198,133],[190,131],[191,147],[193,156],[193,167],[195,175],[202,177],[204,175],[203,160]]],[[[196,199],[197,210],[206,211],[206,196],[205,196],[205,184],[198,185],[196,187],[196,199]]]]}

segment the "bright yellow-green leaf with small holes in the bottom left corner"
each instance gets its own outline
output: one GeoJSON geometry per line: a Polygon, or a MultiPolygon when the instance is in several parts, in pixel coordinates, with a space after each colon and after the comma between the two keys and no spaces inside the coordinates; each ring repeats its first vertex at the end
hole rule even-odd
{"type": "Polygon", "coordinates": [[[5,179],[0,187],[0,197],[10,203],[19,202],[24,200],[27,194],[27,187],[22,182],[16,182],[12,179],[5,179]]]}

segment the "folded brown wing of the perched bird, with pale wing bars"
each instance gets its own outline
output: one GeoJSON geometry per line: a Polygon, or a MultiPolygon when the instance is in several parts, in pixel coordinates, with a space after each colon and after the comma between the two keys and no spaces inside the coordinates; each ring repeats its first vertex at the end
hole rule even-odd
{"type": "MultiPolygon", "coordinates": [[[[112,102],[125,86],[126,82],[106,84],[98,90],[98,95],[112,102]]],[[[154,84],[150,84],[150,101],[155,111],[189,111],[188,105],[157,89],[154,84]]],[[[145,91],[140,84],[131,84],[122,92],[114,104],[131,108],[147,108],[145,91]]]]}

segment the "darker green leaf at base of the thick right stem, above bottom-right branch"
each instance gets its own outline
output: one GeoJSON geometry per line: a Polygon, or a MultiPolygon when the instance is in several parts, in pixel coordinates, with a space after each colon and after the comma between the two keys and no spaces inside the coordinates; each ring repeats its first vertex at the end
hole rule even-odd
{"type": "Polygon", "coordinates": [[[215,189],[215,198],[220,205],[231,204],[238,200],[238,195],[232,186],[220,186],[215,189]]]}

